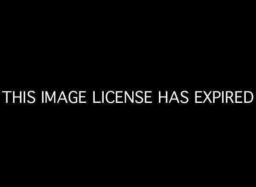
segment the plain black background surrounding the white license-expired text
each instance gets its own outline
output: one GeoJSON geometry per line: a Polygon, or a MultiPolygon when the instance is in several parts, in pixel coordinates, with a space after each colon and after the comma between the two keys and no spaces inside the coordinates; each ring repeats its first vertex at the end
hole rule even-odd
{"type": "Polygon", "coordinates": [[[5,176],[131,184],[250,178],[255,101],[196,105],[193,96],[255,94],[247,7],[42,7],[3,13],[1,91],[152,90],[154,104],[2,102],[5,176]],[[187,105],[157,104],[157,91],[183,90],[187,105]]]}

